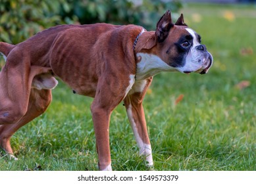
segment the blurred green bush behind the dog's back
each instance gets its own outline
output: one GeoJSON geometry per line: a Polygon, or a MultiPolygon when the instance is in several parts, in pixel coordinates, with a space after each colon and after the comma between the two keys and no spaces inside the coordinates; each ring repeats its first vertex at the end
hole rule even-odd
{"type": "Polygon", "coordinates": [[[0,41],[19,43],[57,24],[140,24],[155,28],[167,10],[178,11],[178,1],[142,0],[0,0],[0,41]]]}

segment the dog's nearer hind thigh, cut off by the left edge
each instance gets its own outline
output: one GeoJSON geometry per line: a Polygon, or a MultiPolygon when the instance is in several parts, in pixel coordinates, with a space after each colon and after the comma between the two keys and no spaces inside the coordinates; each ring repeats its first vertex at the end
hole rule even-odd
{"type": "Polygon", "coordinates": [[[12,51],[0,72],[0,124],[14,124],[26,114],[32,79],[30,57],[20,60],[20,53],[12,51]]]}

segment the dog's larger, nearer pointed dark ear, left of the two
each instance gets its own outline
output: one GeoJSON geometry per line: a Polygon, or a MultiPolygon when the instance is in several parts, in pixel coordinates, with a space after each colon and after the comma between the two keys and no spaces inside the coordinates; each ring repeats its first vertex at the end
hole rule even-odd
{"type": "Polygon", "coordinates": [[[157,30],[155,31],[155,35],[159,43],[165,40],[169,34],[170,28],[173,26],[174,24],[172,24],[170,11],[166,11],[165,14],[160,18],[159,22],[157,22],[157,30]]]}

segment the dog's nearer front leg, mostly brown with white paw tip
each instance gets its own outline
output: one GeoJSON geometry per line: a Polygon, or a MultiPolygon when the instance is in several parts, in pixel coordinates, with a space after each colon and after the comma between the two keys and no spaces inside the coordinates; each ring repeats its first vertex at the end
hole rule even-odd
{"type": "Polygon", "coordinates": [[[112,170],[109,147],[109,121],[114,108],[124,99],[134,82],[134,75],[127,80],[115,80],[115,76],[102,77],[97,85],[91,114],[99,156],[99,170],[112,170]]]}

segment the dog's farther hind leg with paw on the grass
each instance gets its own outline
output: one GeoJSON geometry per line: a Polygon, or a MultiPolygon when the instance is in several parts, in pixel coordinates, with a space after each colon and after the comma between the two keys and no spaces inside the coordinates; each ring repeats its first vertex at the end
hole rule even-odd
{"type": "Polygon", "coordinates": [[[0,126],[0,146],[11,158],[13,149],[11,148],[11,136],[22,126],[43,114],[51,103],[51,89],[31,89],[28,110],[26,114],[16,124],[5,124],[0,126]]]}

